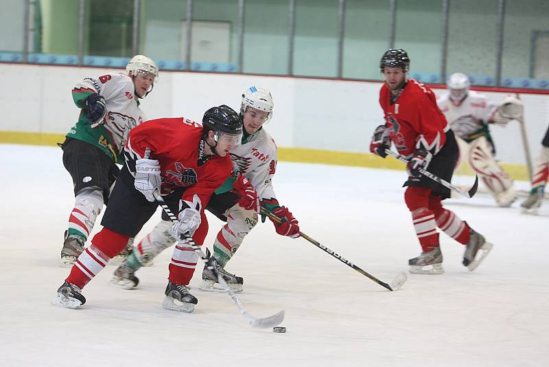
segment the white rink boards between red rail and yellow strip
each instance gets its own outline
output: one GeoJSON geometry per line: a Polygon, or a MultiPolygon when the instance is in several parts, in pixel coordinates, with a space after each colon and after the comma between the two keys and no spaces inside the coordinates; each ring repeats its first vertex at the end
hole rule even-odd
{"type": "MultiPolygon", "coordinates": [[[[66,133],[78,117],[73,85],[86,76],[119,71],[0,64],[0,77],[10,87],[0,97],[0,131],[66,133]]],[[[161,71],[141,106],[150,119],[185,115],[201,120],[214,104],[238,109],[240,95],[250,85],[272,91],[274,118],[268,130],[279,146],[368,153],[371,133],[382,122],[379,82],[161,71]]],[[[495,101],[506,94],[485,93],[495,101]]],[[[549,95],[523,93],[520,98],[530,154],[535,157],[549,124],[549,95]]],[[[491,131],[503,163],[526,163],[517,122],[506,129],[493,126],[491,131]]]]}

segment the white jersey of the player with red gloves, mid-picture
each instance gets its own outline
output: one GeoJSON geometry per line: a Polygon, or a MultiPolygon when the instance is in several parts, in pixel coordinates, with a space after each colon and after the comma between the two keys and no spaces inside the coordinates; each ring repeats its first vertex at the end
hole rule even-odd
{"type": "Polygon", "coordinates": [[[244,175],[257,191],[259,200],[276,199],[272,176],[277,169],[277,144],[261,129],[246,144],[231,150],[233,174],[244,175]]]}

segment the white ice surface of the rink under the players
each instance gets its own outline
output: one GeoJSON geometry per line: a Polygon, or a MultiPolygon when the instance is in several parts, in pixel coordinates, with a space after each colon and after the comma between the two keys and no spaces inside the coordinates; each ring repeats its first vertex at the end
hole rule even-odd
{"type": "MultiPolygon", "coordinates": [[[[539,216],[497,208],[487,194],[450,199],[494,244],[474,272],[463,246],[441,234],[446,273],[408,274],[390,292],[269,221],[227,269],[244,276],[255,317],[285,309],[286,333],[251,328],[224,293],[191,282],[194,313],[161,307],[167,250],[137,275],[139,289],[108,285],[108,266],[84,288],[87,303],[51,306],[68,274],[58,266],[73,205],[59,148],[0,145],[1,366],[547,366],[549,203],[539,216]]],[[[388,157],[387,159],[390,159],[388,157]]],[[[404,204],[404,172],[280,162],[274,187],[301,230],[390,282],[420,252],[404,204]]],[[[471,177],[457,177],[465,186],[471,177]]],[[[527,183],[519,183],[528,188],[527,183]]],[[[521,199],[522,200],[522,199],[521,199]]],[[[160,212],[145,225],[151,230],[160,212]]],[[[211,247],[221,222],[210,218],[211,247]]],[[[97,222],[99,224],[100,221],[97,222]]],[[[99,225],[96,226],[95,231],[99,225]]]]}

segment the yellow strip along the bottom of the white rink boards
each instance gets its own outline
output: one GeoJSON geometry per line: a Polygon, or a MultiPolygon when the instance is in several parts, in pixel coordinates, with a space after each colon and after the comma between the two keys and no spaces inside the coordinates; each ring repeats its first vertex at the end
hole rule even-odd
{"type": "MultiPolygon", "coordinates": [[[[19,133],[0,131],[0,143],[54,146],[65,141],[64,134],[51,133],[19,133]]],[[[396,159],[382,159],[370,153],[348,153],[338,151],[322,151],[308,148],[282,148],[278,150],[279,160],[283,162],[299,162],[314,164],[334,164],[336,166],[353,166],[369,168],[387,168],[404,170],[404,164],[396,159]]],[[[501,164],[512,179],[529,181],[526,166],[518,164],[501,164]]],[[[471,167],[463,164],[458,174],[473,175],[471,167]]]]}

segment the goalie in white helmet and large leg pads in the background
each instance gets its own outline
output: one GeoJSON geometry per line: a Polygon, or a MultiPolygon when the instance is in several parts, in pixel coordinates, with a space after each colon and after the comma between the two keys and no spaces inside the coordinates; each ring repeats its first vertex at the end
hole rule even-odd
{"type": "Polygon", "coordinates": [[[513,118],[503,113],[500,107],[506,103],[520,102],[515,98],[507,98],[498,106],[489,102],[486,96],[469,90],[469,86],[469,78],[465,74],[452,74],[447,81],[447,93],[437,100],[458,141],[460,160],[456,170],[463,162],[469,162],[496,203],[501,207],[509,207],[517,199],[515,186],[494,159],[495,149],[488,126],[506,126],[513,118]]]}

